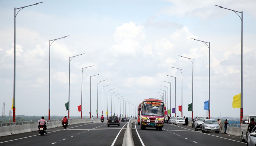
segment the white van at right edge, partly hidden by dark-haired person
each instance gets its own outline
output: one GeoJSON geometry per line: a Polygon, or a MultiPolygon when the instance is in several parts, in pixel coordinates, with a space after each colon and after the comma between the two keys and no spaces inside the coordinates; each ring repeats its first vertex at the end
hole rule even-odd
{"type": "Polygon", "coordinates": [[[247,128],[249,123],[251,122],[251,118],[256,120],[256,115],[244,115],[241,124],[241,138],[242,141],[247,141],[247,128]]]}

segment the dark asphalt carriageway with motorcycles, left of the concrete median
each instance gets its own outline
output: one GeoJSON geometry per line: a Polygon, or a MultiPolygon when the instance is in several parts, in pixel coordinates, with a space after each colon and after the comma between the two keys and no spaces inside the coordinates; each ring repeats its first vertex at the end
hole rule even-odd
{"type": "Polygon", "coordinates": [[[65,130],[63,127],[48,129],[43,136],[34,131],[0,137],[0,146],[121,146],[126,127],[126,122],[121,122],[120,127],[107,127],[106,122],[69,125],[65,130]]]}

